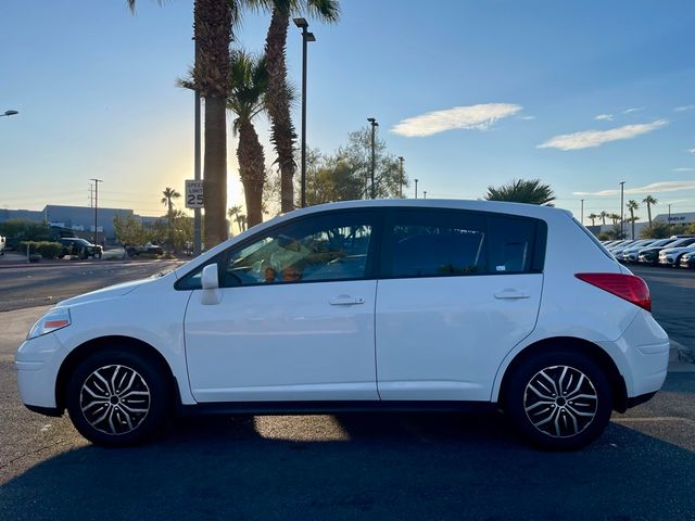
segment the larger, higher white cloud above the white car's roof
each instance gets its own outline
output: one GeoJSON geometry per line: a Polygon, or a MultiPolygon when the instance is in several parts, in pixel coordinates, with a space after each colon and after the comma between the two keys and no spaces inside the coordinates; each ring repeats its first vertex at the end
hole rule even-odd
{"type": "Polygon", "coordinates": [[[395,125],[391,131],[412,138],[432,136],[455,128],[484,130],[497,119],[511,116],[520,112],[521,109],[520,105],[509,103],[455,106],[444,111],[428,112],[421,116],[408,117],[395,125]]]}

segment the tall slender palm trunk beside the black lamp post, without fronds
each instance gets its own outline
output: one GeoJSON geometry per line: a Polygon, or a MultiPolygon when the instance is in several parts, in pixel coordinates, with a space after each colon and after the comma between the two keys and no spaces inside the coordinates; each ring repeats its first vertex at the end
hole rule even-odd
{"type": "Polygon", "coordinates": [[[294,209],[294,140],[296,134],[290,117],[290,89],[287,85],[287,29],[289,15],[278,9],[273,10],[273,18],[265,42],[268,68],[268,91],[266,107],[273,124],[270,141],[278,155],[280,167],[280,209],[282,213],[294,209]]]}

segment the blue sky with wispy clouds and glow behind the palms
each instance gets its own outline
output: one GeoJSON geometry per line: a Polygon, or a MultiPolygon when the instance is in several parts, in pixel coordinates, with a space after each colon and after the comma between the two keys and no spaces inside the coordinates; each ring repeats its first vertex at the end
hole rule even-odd
{"type": "MultiPolygon", "coordinates": [[[[379,123],[428,198],[540,178],[584,221],[650,194],[695,212],[695,2],[342,0],[309,18],[307,142],[332,153],[379,123]]],[[[90,204],[162,215],[193,178],[192,1],[0,2],[0,207],[90,204]]],[[[263,50],[247,12],[236,46],[263,50]]],[[[300,29],[288,36],[301,86],[300,29]]],[[[301,105],[293,107],[298,132],[301,105]]],[[[231,117],[228,118],[231,129],[231,117]]],[[[268,123],[257,122],[268,163],[268,123]]],[[[243,201],[229,131],[228,205],[243,201]]],[[[414,186],[407,190],[414,196],[414,186]]],[[[182,199],[179,205],[182,206],[182,199]]],[[[636,215],[646,219],[646,209],[636,215]]]]}

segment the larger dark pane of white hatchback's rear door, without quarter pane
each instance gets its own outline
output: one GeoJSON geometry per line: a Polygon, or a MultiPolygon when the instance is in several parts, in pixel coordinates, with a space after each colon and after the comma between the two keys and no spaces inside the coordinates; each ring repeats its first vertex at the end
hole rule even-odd
{"type": "Polygon", "coordinates": [[[445,277],[485,269],[485,219],[464,212],[396,212],[387,275],[445,277]]]}

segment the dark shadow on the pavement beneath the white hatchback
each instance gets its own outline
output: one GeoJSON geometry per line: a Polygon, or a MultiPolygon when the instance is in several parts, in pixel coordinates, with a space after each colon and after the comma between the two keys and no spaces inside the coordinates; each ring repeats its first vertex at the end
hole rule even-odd
{"type": "Polygon", "coordinates": [[[0,486],[0,519],[693,519],[695,454],[611,423],[541,452],[500,415],[203,417],[0,486]]]}

